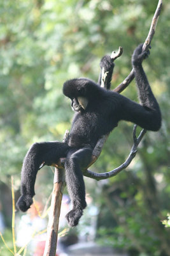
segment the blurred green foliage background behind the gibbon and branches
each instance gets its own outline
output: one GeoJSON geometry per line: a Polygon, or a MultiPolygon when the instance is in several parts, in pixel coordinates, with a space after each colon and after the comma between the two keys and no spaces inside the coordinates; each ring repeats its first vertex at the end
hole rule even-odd
{"type": "MultiPolygon", "coordinates": [[[[117,177],[85,179],[99,207],[97,241],[129,255],[170,255],[170,228],[161,222],[170,211],[170,3],[163,2],[151,54],[143,63],[160,104],[162,128],[147,132],[136,158],[117,177]]],[[[71,126],[73,112],[62,84],[74,77],[97,81],[100,59],[121,45],[112,89],[120,84],[131,71],[132,52],[148,35],[156,6],[153,0],[0,2],[0,202],[7,230],[11,175],[18,197],[28,148],[35,141],[62,140],[71,126]]],[[[122,94],[138,100],[134,81],[122,94]]],[[[108,172],[124,162],[132,127],[118,125],[91,170],[108,172]]],[[[36,181],[36,196],[44,204],[52,187],[53,172],[45,167],[36,181]]]]}

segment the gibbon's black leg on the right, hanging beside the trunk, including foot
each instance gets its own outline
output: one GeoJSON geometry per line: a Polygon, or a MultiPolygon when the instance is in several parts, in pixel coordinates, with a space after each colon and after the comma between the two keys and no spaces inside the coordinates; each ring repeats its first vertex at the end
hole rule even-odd
{"type": "Polygon", "coordinates": [[[66,159],[66,184],[67,191],[73,204],[73,209],[67,213],[66,219],[69,226],[78,225],[78,221],[83,214],[83,209],[87,206],[85,202],[85,184],[81,168],[90,163],[92,148],[81,148],[75,152],[71,150],[66,159]]]}

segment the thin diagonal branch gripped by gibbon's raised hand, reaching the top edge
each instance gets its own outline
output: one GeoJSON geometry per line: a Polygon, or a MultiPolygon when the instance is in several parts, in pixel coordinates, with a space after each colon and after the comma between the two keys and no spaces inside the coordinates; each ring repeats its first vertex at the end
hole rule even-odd
{"type": "MultiPolygon", "coordinates": [[[[156,29],[156,26],[157,26],[157,21],[159,19],[161,8],[162,8],[162,0],[159,0],[159,3],[157,5],[157,9],[155,10],[155,14],[153,15],[152,23],[151,23],[151,26],[150,26],[150,31],[148,33],[148,36],[146,37],[145,43],[143,44],[143,51],[147,51],[151,42],[152,42],[152,38],[153,38],[153,35],[155,34],[155,29],[156,29]]],[[[117,86],[117,88],[115,88],[113,91],[121,93],[122,91],[125,90],[125,88],[127,88],[127,86],[131,83],[131,81],[133,79],[134,79],[134,69],[132,68],[131,73],[129,74],[129,76],[127,76],[124,79],[124,81],[121,84],[119,84],[117,86]]]]}

